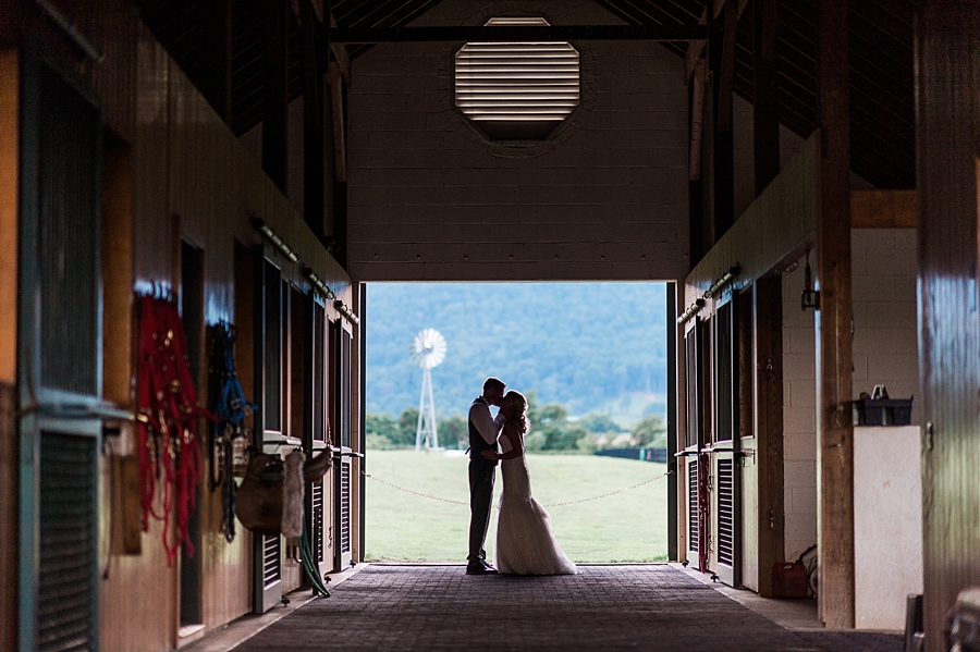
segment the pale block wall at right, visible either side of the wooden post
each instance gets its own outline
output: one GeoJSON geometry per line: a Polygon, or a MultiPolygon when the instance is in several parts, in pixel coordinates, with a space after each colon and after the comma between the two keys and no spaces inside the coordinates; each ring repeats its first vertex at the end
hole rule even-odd
{"type": "MultiPolygon", "coordinates": [[[[812,258],[812,256],[811,256],[812,258]]],[[[814,261],[816,262],[816,261],[814,261]]],[[[916,231],[852,231],[854,397],[884,384],[892,398],[918,394],[916,231]]],[[[785,554],[817,542],[817,385],[813,312],[799,307],[805,261],[783,275],[785,554]]],[[[918,415],[912,409],[912,422],[918,415]]]]}

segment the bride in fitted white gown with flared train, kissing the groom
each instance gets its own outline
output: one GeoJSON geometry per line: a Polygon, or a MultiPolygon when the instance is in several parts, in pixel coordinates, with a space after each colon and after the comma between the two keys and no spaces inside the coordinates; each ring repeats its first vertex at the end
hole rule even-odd
{"type": "Polygon", "coordinates": [[[501,459],[503,495],[497,520],[497,568],[513,575],[575,575],[575,564],[551,533],[551,517],[531,496],[530,476],[524,456],[527,399],[507,392],[500,403],[506,418],[501,444],[504,452],[483,451],[488,459],[501,459]]]}

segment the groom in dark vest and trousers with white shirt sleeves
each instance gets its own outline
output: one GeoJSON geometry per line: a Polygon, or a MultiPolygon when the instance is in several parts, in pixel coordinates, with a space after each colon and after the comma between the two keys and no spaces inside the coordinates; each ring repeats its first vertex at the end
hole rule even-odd
{"type": "Polygon", "coordinates": [[[497,378],[483,381],[483,394],[469,406],[469,555],[467,575],[490,575],[497,568],[487,563],[483,541],[490,526],[490,503],[493,500],[493,476],[497,462],[483,457],[483,451],[497,451],[497,438],[503,429],[504,416],[490,416],[490,406],[500,405],[507,387],[497,378]]]}

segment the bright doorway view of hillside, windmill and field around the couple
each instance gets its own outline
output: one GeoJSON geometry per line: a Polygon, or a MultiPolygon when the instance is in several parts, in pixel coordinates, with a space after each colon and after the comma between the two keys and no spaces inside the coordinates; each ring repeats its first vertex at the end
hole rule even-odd
{"type": "MultiPolygon", "coordinates": [[[[667,558],[673,286],[369,283],[366,294],[366,561],[466,558],[467,415],[488,377],[528,398],[531,489],[568,556],[667,558]]],[[[502,483],[498,472],[494,506],[502,483]]]]}

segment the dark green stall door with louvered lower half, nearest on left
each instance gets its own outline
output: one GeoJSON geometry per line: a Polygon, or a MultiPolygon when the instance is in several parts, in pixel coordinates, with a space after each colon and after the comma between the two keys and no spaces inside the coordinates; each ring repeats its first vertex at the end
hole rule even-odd
{"type": "Polygon", "coordinates": [[[23,54],[20,650],[96,650],[101,115],[36,44],[23,54]]]}

